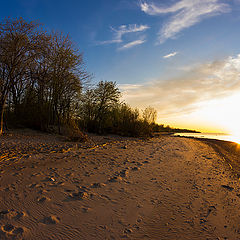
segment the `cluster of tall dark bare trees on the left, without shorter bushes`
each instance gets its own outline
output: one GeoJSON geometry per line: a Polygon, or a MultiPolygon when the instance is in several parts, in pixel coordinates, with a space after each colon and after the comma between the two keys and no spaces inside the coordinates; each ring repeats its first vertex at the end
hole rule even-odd
{"type": "Polygon", "coordinates": [[[4,112],[16,124],[47,130],[69,124],[90,75],[70,38],[22,18],[0,23],[0,134],[4,112]]]}

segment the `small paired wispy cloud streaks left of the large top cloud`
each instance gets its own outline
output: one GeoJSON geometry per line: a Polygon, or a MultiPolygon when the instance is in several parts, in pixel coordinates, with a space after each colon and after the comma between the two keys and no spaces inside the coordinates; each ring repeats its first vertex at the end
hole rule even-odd
{"type": "MultiPolygon", "coordinates": [[[[111,31],[113,32],[113,38],[111,40],[98,42],[98,45],[122,43],[124,35],[130,34],[130,33],[144,32],[149,28],[150,27],[148,25],[141,25],[141,24],[140,25],[137,25],[137,24],[121,25],[117,29],[111,27],[111,31]]],[[[135,42],[135,45],[139,45],[139,44],[142,44],[144,41],[143,40],[133,41],[132,46],[135,46],[134,42],[135,42]]],[[[131,47],[131,43],[129,43],[129,44],[123,45],[121,48],[123,49],[129,48],[128,45],[131,47]]]]}

